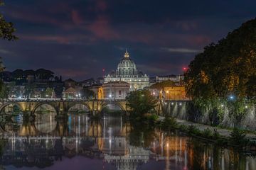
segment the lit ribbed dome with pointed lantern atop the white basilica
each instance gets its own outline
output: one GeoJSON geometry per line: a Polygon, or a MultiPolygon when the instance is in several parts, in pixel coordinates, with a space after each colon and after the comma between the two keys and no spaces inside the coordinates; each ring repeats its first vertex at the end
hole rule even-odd
{"type": "Polygon", "coordinates": [[[137,77],[138,71],[136,64],[129,57],[129,53],[126,51],[124,57],[119,62],[116,70],[117,77],[137,77]]]}

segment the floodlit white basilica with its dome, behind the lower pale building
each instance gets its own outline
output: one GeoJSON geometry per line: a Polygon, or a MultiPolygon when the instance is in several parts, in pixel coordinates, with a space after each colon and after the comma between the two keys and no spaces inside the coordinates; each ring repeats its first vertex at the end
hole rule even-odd
{"type": "Polygon", "coordinates": [[[136,64],[129,57],[127,50],[117,65],[116,71],[105,77],[105,83],[110,81],[125,81],[129,83],[130,91],[144,89],[144,87],[149,86],[149,77],[142,72],[138,72],[136,64]]]}

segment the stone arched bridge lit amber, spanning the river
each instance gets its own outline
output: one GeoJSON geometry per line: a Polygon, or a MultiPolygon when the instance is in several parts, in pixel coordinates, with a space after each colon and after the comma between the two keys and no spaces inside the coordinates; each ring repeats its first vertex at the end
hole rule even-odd
{"type": "MultiPolygon", "coordinates": [[[[163,111],[171,103],[186,103],[187,101],[158,101],[156,104],[155,111],[157,114],[161,115],[163,111]]],[[[102,108],[105,108],[107,105],[118,106],[124,113],[129,111],[127,107],[127,101],[125,100],[87,100],[87,99],[61,99],[61,98],[30,98],[30,99],[3,99],[0,101],[0,113],[3,113],[6,106],[18,106],[21,108],[23,113],[28,115],[34,115],[36,109],[42,105],[52,106],[55,109],[57,115],[65,115],[70,111],[70,108],[76,105],[86,106],[90,113],[101,113],[102,108]]]]}

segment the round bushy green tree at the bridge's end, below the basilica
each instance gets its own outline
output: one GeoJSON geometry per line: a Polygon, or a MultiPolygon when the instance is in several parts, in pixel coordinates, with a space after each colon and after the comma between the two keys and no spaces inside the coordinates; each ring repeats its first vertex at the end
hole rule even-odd
{"type": "Polygon", "coordinates": [[[132,109],[132,114],[143,117],[156,107],[156,99],[148,90],[131,91],[126,97],[127,106],[132,109]]]}

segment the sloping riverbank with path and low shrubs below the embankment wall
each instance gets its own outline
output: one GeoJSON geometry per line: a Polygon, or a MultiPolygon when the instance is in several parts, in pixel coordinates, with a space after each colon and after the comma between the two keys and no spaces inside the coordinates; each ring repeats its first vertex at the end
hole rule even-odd
{"type": "Polygon", "coordinates": [[[169,118],[169,120],[165,120],[165,118],[161,116],[158,118],[158,122],[162,128],[166,128],[167,130],[174,128],[187,135],[215,142],[219,145],[235,146],[247,150],[253,150],[254,152],[256,151],[256,135],[251,132],[229,130],[176,118],[169,118]]]}

